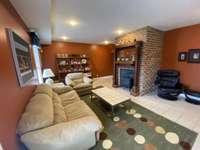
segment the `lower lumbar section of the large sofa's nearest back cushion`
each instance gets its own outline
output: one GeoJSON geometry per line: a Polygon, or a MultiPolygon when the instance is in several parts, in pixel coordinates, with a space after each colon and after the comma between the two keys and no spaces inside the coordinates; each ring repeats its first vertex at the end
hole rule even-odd
{"type": "Polygon", "coordinates": [[[64,111],[64,108],[59,103],[54,103],[54,124],[58,124],[61,122],[66,122],[67,117],[64,111]]]}

